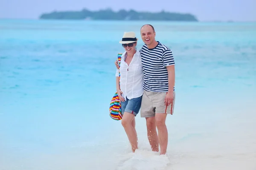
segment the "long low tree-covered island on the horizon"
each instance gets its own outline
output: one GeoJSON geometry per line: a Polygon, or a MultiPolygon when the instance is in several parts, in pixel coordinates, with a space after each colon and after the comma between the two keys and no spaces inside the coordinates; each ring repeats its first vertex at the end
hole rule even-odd
{"type": "Polygon", "coordinates": [[[90,11],[82,9],[81,11],[53,11],[41,14],[41,20],[156,20],[156,21],[194,21],[197,18],[192,14],[181,14],[173,12],[138,12],[134,10],[126,11],[124,9],[113,11],[110,8],[90,11]]]}

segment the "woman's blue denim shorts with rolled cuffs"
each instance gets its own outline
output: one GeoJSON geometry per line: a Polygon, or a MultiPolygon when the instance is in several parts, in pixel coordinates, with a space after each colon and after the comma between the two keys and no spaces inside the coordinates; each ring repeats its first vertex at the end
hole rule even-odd
{"type": "Polygon", "coordinates": [[[140,111],[141,100],[142,96],[133,98],[131,100],[127,99],[126,97],[126,101],[121,102],[122,115],[124,115],[125,112],[128,112],[136,116],[140,111]]]}

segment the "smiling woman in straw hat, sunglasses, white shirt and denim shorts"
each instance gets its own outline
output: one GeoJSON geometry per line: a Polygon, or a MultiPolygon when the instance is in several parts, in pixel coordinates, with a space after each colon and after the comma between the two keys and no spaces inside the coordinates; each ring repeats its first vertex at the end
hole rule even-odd
{"type": "Polygon", "coordinates": [[[137,40],[134,32],[124,33],[119,43],[125,52],[121,56],[120,68],[116,70],[116,91],[121,101],[122,126],[128,136],[132,152],[138,148],[135,116],[140,111],[143,95],[143,67],[140,52],[136,50],[137,40]]]}

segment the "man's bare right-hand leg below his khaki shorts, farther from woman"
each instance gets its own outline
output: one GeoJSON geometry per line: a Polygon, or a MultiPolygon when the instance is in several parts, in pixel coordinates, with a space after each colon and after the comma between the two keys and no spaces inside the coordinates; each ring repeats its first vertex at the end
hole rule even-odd
{"type": "Polygon", "coordinates": [[[166,113],[156,113],[155,116],[160,145],[160,155],[166,154],[168,144],[168,131],[165,124],[166,116],[166,113]]]}

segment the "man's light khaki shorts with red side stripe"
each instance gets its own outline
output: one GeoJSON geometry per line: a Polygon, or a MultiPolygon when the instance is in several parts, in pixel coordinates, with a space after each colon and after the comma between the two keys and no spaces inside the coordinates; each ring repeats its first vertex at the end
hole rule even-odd
{"type": "Polygon", "coordinates": [[[173,101],[169,106],[166,106],[164,102],[166,94],[167,93],[143,90],[140,116],[154,117],[155,113],[173,114],[175,105],[175,91],[173,91],[173,101]]]}

